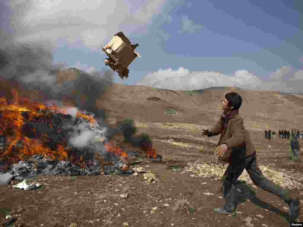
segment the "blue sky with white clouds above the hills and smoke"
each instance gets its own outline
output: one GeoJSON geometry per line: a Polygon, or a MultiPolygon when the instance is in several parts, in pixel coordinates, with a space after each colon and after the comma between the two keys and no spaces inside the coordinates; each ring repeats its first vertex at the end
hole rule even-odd
{"type": "Polygon", "coordinates": [[[31,3],[18,18],[14,38],[51,45],[56,63],[102,71],[109,69],[102,46],[115,33],[139,43],[142,58],[129,66],[127,80],[115,73],[115,83],[303,92],[300,0],[31,3]]]}

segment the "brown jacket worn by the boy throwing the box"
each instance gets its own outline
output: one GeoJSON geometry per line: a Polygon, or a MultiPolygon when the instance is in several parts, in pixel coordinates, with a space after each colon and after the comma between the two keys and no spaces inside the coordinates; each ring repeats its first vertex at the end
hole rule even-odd
{"type": "Polygon", "coordinates": [[[234,147],[246,147],[246,157],[255,153],[255,146],[250,141],[250,134],[244,128],[243,118],[239,115],[238,110],[233,110],[228,117],[228,124],[223,130],[222,117],[218,120],[215,126],[210,130],[212,135],[217,136],[221,133],[218,146],[222,143],[228,145],[228,150],[225,151],[222,160],[228,160],[231,154],[231,150],[234,147]]]}

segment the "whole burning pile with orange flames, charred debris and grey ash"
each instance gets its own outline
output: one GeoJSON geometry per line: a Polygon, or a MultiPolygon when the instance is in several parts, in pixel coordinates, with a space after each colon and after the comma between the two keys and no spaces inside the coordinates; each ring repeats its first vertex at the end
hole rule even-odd
{"type": "Polygon", "coordinates": [[[132,120],[118,122],[111,132],[92,113],[58,102],[30,101],[18,97],[17,90],[12,94],[9,102],[0,98],[0,171],[15,179],[37,174],[98,175],[96,154],[113,163],[104,167],[105,174],[131,174],[129,154],[110,142],[116,132],[122,132],[126,143],[161,161],[148,135],[134,136],[137,130],[132,120]]]}

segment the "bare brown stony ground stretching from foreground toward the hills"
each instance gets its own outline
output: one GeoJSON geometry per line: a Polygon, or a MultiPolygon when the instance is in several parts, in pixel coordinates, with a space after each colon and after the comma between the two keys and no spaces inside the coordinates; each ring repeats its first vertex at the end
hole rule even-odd
{"type": "MultiPolygon", "coordinates": [[[[155,93],[155,90],[149,92],[155,93]]],[[[221,93],[218,97],[214,95],[211,97],[219,100],[222,98],[221,93]]],[[[145,96],[149,97],[146,92],[145,96]]],[[[196,109],[193,104],[192,108],[187,106],[186,113],[177,110],[179,115],[164,116],[161,112],[159,116],[153,117],[148,109],[151,104],[142,104],[142,106],[138,104],[133,107],[132,103],[135,100],[125,97],[127,96],[108,107],[111,117],[115,119],[118,116],[122,118],[133,116],[138,133],[146,132],[153,139],[153,146],[157,149],[157,153],[162,155],[163,162],[145,161],[138,163],[138,166],[151,170],[151,173],[155,173],[157,180],[148,184],[143,179],[143,173],[139,173],[138,176],[37,176],[29,180],[30,183],[42,183],[42,187],[37,189],[25,191],[12,188],[12,185],[1,186],[1,224],[5,222],[5,216],[8,214],[17,217],[14,226],[31,227],[284,227],[293,221],[288,215],[288,205],[284,201],[260,188],[252,188],[241,182],[237,185],[240,190],[237,191],[236,216],[213,213],[214,208],[224,203],[219,192],[220,176],[197,176],[188,169],[190,169],[189,163],[197,165],[212,163],[213,148],[219,138],[218,136],[202,138],[200,132],[201,129],[210,127],[216,116],[214,113],[220,113],[220,110],[201,111],[198,107],[199,98],[195,97],[196,109]],[[122,99],[127,99],[127,101],[122,99]],[[172,165],[179,165],[180,168],[171,169],[172,165]],[[121,194],[127,194],[127,197],[121,198],[121,194]]],[[[162,97],[162,100],[164,99],[162,97]]],[[[109,101],[107,104],[109,105],[109,101]]],[[[203,104],[205,105],[203,108],[207,109],[211,104],[203,104]]],[[[177,109],[172,104],[165,105],[177,109]]],[[[162,107],[157,108],[162,110],[162,107]]],[[[247,109],[245,111],[249,112],[247,109]]],[[[283,119],[280,119],[280,122],[279,119],[275,119],[276,122],[272,123],[274,119],[271,115],[266,120],[262,118],[263,115],[255,118],[252,117],[253,114],[243,116],[245,126],[250,131],[251,140],[257,149],[259,165],[268,166],[270,169],[285,174],[285,178],[291,177],[292,181],[296,182],[299,176],[302,176],[303,163],[291,162],[288,159],[289,141],[287,139],[266,139],[264,127],[271,127],[277,131],[280,127],[290,129],[297,126],[300,129],[298,123],[290,124],[283,119]]],[[[300,118],[301,115],[296,115],[296,119],[300,118]]],[[[299,142],[301,143],[301,140],[299,142]]],[[[300,151],[300,156],[302,154],[300,151]]],[[[13,182],[15,183],[17,182],[13,182]]],[[[303,202],[300,187],[299,184],[296,187],[296,183],[293,183],[289,188],[291,193],[299,195],[303,202]]],[[[303,221],[302,214],[298,221],[303,221]]]]}

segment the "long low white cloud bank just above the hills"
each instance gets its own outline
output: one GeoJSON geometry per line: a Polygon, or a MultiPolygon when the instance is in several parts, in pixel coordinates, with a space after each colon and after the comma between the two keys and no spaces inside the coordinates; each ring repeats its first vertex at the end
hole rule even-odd
{"type": "MultiPolygon", "coordinates": [[[[283,70],[286,70],[285,67],[276,72],[283,70]]],[[[260,77],[247,70],[239,70],[232,75],[226,75],[215,71],[189,71],[180,67],[178,70],[168,68],[151,72],[137,85],[171,90],[196,90],[217,86],[236,86],[252,90],[281,90],[284,92],[301,90],[301,83],[290,81],[289,78],[282,78],[283,81],[277,81],[276,77],[270,81],[262,81],[260,77]]],[[[303,71],[297,71],[291,78],[303,80],[303,71]]]]}

